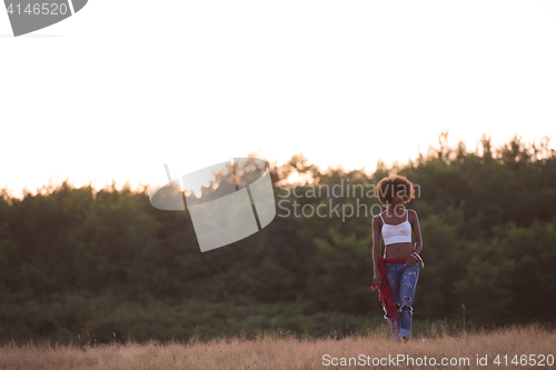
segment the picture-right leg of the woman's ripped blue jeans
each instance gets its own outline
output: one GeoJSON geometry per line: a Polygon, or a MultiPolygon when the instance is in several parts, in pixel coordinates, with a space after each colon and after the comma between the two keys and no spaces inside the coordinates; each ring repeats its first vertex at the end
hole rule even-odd
{"type": "Polygon", "coordinates": [[[414,298],[415,287],[419,279],[419,266],[406,266],[401,268],[401,277],[398,282],[398,299],[399,304],[399,336],[404,338],[411,338],[411,324],[414,316],[414,298]]]}

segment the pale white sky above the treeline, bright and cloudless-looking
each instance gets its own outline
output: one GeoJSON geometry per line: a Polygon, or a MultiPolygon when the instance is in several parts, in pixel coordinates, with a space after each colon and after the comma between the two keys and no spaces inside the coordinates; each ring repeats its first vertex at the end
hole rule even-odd
{"type": "MultiPolygon", "coordinates": [[[[259,151],[320,167],[556,137],[553,1],[90,0],[12,38],[0,187],[166,180],[259,151]]],[[[556,138],[552,142],[555,147],[556,138]]]]}

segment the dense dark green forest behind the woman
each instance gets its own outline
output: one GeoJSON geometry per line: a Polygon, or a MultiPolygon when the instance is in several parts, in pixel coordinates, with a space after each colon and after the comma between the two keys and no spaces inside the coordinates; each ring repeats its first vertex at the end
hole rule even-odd
{"type": "Polygon", "coordinates": [[[17,199],[4,189],[0,342],[365,333],[384,321],[369,288],[373,214],[307,217],[299,207],[365,204],[376,214],[376,197],[327,197],[315,187],[373,189],[389,173],[418,186],[407,204],[419,216],[426,263],[416,330],[461,321],[464,307],[476,326],[548,323],[547,303],[556,297],[555,151],[548,138],[538,146],[518,137],[499,148],[485,137],[479,143],[475,152],[461,142],[450,148],[441,133],[426,156],[391,168],[378,162],[371,176],[325,172],[302,154],[270,163],[275,220],[203,253],[188,211],[157,210],[146,190],[96,191],[64,181],[17,199]],[[285,179],[296,171],[312,184],[294,192],[285,179]]]}

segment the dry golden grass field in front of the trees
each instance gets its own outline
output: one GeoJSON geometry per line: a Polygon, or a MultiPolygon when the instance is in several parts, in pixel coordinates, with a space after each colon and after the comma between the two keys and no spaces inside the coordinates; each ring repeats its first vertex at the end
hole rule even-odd
{"type": "Polygon", "coordinates": [[[433,328],[408,343],[391,341],[383,327],[342,339],[275,333],[189,343],[4,346],[0,369],[554,369],[555,356],[556,332],[535,324],[456,334],[433,328]]]}

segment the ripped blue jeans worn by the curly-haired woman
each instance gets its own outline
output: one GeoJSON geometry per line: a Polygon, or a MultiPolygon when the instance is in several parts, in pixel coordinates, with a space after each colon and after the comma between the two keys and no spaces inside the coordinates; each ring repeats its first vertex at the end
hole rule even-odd
{"type": "Polygon", "coordinates": [[[411,338],[411,322],[414,316],[414,298],[415,287],[419,279],[419,264],[414,266],[404,263],[386,262],[386,271],[388,272],[388,282],[390,283],[394,302],[398,309],[397,323],[394,323],[394,318],[386,317],[390,323],[391,334],[395,341],[399,341],[399,337],[411,338]]]}

